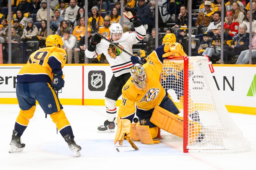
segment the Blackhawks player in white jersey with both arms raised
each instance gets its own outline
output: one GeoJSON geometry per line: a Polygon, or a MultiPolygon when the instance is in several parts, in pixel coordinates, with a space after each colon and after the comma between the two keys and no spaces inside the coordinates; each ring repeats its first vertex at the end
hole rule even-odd
{"type": "MultiPolygon", "coordinates": [[[[121,49],[132,54],[132,45],[140,42],[146,36],[146,30],[138,20],[136,12],[130,8],[125,8],[124,15],[134,25],[135,31],[123,33],[123,28],[119,23],[111,24],[109,28],[109,41],[116,43],[121,49]]],[[[104,54],[110,64],[114,75],[108,85],[105,94],[105,105],[107,118],[104,125],[98,127],[98,132],[114,132],[116,117],[116,101],[122,94],[122,87],[131,77],[130,70],[133,65],[129,55],[122,50],[116,48],[106,40],[101,40],[100,36],[94,35],[90,41],[90,45],[85,50],[85,56],[88,58],[96,58],[99,54],[104,54]]]]}

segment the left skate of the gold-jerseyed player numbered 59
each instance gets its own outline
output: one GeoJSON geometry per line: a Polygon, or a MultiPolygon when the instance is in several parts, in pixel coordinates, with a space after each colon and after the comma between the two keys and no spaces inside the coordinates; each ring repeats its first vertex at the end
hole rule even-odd
{"type": "Polygon", "coordinates": [[[25,147],[25,144],[21,143],[20,137],[18,137],[17,135],[18,135],[18,131],[13,130],[9,153],[21,152],[25,147]]]}

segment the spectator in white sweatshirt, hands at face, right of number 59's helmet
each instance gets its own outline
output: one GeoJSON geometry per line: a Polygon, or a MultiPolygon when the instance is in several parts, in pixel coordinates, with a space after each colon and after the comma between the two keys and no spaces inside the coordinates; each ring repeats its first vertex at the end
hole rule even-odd
{"type": "MultiPolygon", "coordinates": [[[[68,30],[63,31],[63,49],[67,52],[67,63],[72,63],[73,55],[75,55],[75,49],[76,49],[76,37],[73,35],[70,35],[70,32],[68,30]]],[[[76,58],[79,57],[76,56],[76,58]]]]}

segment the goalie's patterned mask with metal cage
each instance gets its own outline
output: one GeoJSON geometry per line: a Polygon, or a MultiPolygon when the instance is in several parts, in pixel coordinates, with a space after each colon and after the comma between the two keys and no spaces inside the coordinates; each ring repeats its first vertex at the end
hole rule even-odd
{"type": "Polygon", "coordinates": [[[140,87],[145,87],[146,85],[146,69],[140,65],[139,63],[136,63],[131,68],[131,75],[133,78],[133,83],[139,85],[140,87]]]}

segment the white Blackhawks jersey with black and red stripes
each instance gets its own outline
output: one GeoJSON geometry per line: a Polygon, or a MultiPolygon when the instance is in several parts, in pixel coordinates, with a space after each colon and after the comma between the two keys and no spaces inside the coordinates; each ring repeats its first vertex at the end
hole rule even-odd
{"type": "MultiPolygon", "coordinates": [[[[119,40],[113,42],[120,48],[132,54],[132,45],[140,42],[145,36],[146,30],[144,26],[141,25],[136,27],[135,31],[123,33],[119,40]]],[[[96,58],[102,53],[106,56],[115,77],[130,72],[133,65],[131,62],[131,56],[124,53],[122,50],[119,50],[104,39],[96,45],[95,51],[91,52],[88,49],[85,50],[85,56],[88,58],[96,58]]]]}

